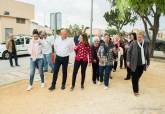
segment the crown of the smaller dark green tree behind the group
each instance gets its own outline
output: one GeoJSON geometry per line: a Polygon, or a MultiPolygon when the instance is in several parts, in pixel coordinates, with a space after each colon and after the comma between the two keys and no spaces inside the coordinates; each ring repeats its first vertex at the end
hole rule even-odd
{"type": "Polygon", "coordinates": [[[123,26],[127,24],[134,24],[137,20],[135,15],[132,15],[130,11],[125,12],[124,18],[120,18],[120,11],[117,8],[111,9],[104,14],[104,18],[110,27],[116,27],[119,33],[123,26]]]}

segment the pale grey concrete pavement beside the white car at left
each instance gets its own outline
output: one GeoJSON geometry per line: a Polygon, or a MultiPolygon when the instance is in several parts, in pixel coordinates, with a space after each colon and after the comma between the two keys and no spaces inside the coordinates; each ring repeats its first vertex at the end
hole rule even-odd
{"type": "MultiPolygon", "coordinates": [[[[18,60],[20,67],[10,67],[8,60],[0,60],[0,86],[29,78],[29,57],[19,57],[18,60]]],[[[73,62],[74,53],[70,55],[69,60],[70,64],[73,64],[73,62]]],[[[40,77],[36,70],[36,77],[34,80],[38,81],[39,79],[40,77]]]]}

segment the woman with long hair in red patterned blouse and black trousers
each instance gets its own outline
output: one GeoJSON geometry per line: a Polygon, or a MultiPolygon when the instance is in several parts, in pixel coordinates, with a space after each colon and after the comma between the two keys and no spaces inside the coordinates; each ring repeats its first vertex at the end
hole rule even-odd
{"type": "Polygon", "coordinates": [[[72,75],[72,87],[71,91],[75,87],[76,77],[81,66],[81,88],[84,89],[85,73],[88,62],[92,62],[92,51],[88,43],[88,37],[86,34],[80,35],[80,43],[75,47],[76,57],[74,62],[74,69],[72,75]]]}

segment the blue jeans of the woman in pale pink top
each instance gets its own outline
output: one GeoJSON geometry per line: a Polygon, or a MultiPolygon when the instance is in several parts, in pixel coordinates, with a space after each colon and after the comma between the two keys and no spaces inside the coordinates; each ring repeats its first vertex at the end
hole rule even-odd
{"type": "Polygon", "coordinates": [[[33,80],[34,80],[34,74],[35,74],[35,69],[38,67],[40,78],[41,78],[41,83],[44,83],[44,72],[43,72],[43,59],[39,58],[33,61],[30,58],[30,80],[29,84],[32,86],[33,85],[33,80]]]}

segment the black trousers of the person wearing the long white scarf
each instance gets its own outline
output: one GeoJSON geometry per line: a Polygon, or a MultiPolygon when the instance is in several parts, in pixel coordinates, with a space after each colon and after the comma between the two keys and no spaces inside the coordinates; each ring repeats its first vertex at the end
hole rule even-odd
{"type": "Polygon", "coordinates": [[[139,92],[139,79],[143,74],[144,66],[137,66],[135,72],[132,72],[132,86],[135,93],[139,92]]]}

